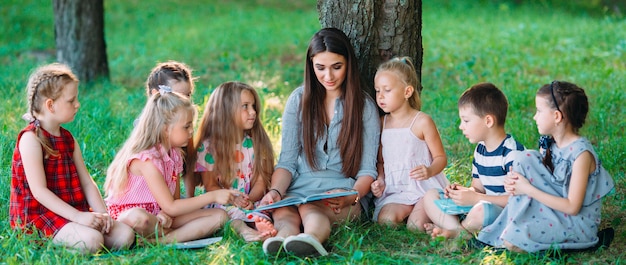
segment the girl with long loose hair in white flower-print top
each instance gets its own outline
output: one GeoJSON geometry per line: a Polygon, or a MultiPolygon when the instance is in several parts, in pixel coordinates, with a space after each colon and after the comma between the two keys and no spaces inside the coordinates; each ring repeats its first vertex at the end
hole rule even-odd
{"type": "Polygon", "coordinates": [[[261,102],[254,88],[240,82],[218,86],[206,104],[195,145],[196,171],[202,174],[206,191],[230,188],[247,195],[237,197],[234,205],[210,207],[226,210],[233,228],[248,242],[274,236],[269,217],[250,216],[242,210],[253,209],[263,197],[274,166],[272,144],[261,124],[261,102]]]}

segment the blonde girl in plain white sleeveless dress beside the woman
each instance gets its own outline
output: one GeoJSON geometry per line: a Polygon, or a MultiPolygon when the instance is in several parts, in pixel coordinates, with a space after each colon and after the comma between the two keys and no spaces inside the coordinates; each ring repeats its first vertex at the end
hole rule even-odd
{"type": "Polygon", "coordinates": [[[421,85],[408,57],[391,59],[378,67],[374,78],[376,102],[386,113],[378,163],[372,183],[374,220],[411,230],[424,230],[430,219],[422,198],[429,189],[444,189],[447,158],[433,119],[420,111],[421,85]]]}

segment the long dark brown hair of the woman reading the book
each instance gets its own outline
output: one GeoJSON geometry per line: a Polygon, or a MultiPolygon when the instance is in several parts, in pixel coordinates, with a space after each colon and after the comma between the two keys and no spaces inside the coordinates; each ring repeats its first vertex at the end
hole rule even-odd
{"type": "Polygon", "coordinates": [[[315,33],[307,50],[304,93],[302,96],[302,133],[303,147],[307,162],[311,168],[317,168],[315,145],[324,135],[326,111],[324,98],[326,89],[317,80],[313,68],[313,57],[321,52],[332,52],[346,59],[346,78],[341,84],[341,99],[343,100],[343,120],[341,131],[337,139],[342,160],[342,173],[346,177],[357,174],[361,165],[363,153],[363,108],[365,95],[361,90],[361,79],[354,48],[348,37],[336,28],[324,28],[315,33]]]}

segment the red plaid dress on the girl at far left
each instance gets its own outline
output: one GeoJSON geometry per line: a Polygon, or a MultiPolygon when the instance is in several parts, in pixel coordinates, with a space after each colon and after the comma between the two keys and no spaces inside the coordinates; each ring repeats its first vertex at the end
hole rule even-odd
{"type": "MultiPolygon", "coordinates": [[[[22,135],[27,131],[34,132],[35,126],[31,123],[18,134],[15,150],[13,151],[11,198],[9,203],[11,227],[25,229],[27,232],[30,232],[31,229],[38,230],[42,235],[54,237],[70,220],[57,215],[41,205],[30,191],[26,181],[26,174],[24,173],[22,155],[18,148],[22,135]]],[[[61,136],[51,135],[43,128],[41,128],[41,131],[50,141],[52,148],[59,152],[59,156],[50,156],[43,160],[48,189],[77,210],[89,211],[89,205],[80,186],[76,165],[74,165],[72,159],[74,154],[74,137],[63,128],[61,128],[61,136]]]]}

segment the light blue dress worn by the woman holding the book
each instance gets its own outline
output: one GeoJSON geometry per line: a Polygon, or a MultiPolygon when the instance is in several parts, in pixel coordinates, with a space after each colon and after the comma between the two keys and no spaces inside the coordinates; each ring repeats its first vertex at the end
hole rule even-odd
{"type": "MultiPolygon", "coordinates": [[[[342,160],[337,139],[341,131],[343,119],[343,101],[335,101],[335,115],[326,127],[326,134],[322,135],[315,146],[317,170],[312,169],[304,156],[302,145],[302,116],[300,115],[303,87],[294,90],[285,106],[282,118],[281,152],[276,168],[283,168],[291,173],[292,180],[286,197],[306,197],[315,193],[322,193],[332,189],[352,189],[356,179],[372,177],[376,179],[376,161],[380,137],[380,119],[374,101],[366,96],[363,110],[363,131],[350,132],[363,134],[363,155],[361,166],[356,176],[346,177],[342,172],[342,160]],[[324,145],[326,150],[324,150],[324,145]]],[[[364,202],[366,200],[361,200],[364,202]]],[[[362,203],[367,210],[367,205],[362,203]]]]}

